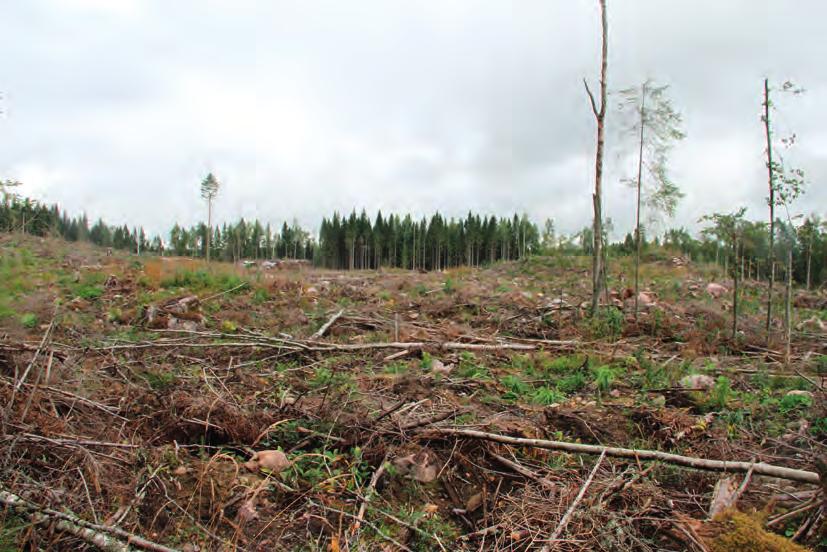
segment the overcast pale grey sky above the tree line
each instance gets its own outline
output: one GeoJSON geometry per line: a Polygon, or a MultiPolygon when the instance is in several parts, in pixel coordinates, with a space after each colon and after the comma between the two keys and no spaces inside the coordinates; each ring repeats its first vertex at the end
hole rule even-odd
{"type": "MultiPolygon", "coordinates": [[[[612,89],[671,86],[686,140],[670,225],[765,216],[762,80],[779,97],[798,212],[827,210],[823,0],[609,0],[612,89]]],[[[333,210],[591,219],[596,0],[0,0],[0,179],[110,223],[166,231],[333,210]]],[[[632,220],[610,100],[606,215],[632,220]]]]}

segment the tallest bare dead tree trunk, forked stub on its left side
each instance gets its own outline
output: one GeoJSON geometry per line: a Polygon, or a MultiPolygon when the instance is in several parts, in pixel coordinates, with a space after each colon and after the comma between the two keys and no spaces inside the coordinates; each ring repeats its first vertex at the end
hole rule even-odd
{"type": "Polygon", "coordinates": [[[603,46],[600,57],[600,105],[589,89],[589,83],[583,79],[583,85],[586,87],[586,94],[589,96],[592,113],[597,120],[597,151],[595,153],[594,161],[594,193],[592,194],[592,203],[594,205],[594,228],[593,236],[594,248],[592,250],[592,315],[597,313],[600,304],[600,290],[604,278],[603,267],[603,209],[601,203],[602,197],[602,182],[603,182],[603,143],[604,130],[606,121],[606,96],[608,95],[608,81],[606,77],[608,57],[609,57],[609,24],[606,18],[606,0],[598,0],[600,2],[600,21],[602,28],[603,46]]]}

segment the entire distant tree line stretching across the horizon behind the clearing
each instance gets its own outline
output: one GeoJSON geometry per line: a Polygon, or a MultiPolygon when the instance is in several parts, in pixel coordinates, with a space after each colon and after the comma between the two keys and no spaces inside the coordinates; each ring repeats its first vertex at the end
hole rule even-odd
{"type": "MultiPolygon", "coordinates": [[[[102,220],[90,224],[87,216],[69,216],[57,205],[46,205],[14,193],[13,182],[0,181],[0,231],[25,232],[35,236],[61,237],[68,241],[87,241],[101,247],[134,253],[206,256],[207,226],[190,228],[175,224],[168,240],[148,238],[140,226],[109,225],[102,220]]],[[[810,215],[797,225],[778,219],[775,226],[776,257],[793,254],[793,278],[808,287],[827,282],[827,224],[810,215]]],[[[612,232],[607,218],[604,234],[612,232]]],[[[743,221],[739,226],[739,245],[734,258],[721,232],[714,224],[698,237],[684,228],[667,230],[651,238],[641,227],[640,246],[644,260],[680,254],[696,262],[717,263],[731,274],[734,268],[745,278],[767,280],[771,267],[768,223],[743,221]],[[648,257],[648,259],[647,259],[648,257]]],[[[381,213],[371,221],[362,211],[348,216],[337,213],[322,220],[318,241],[297,222],[274,230],[258,220],[239,220],[216,226],[212,232],[215,258],[240,259],[307,259],[317,265],[335,269],[375,269],[397,267],[435,270],[455,266],[480,266],[501,260],[518,260],[530,255],[591,255],[593,229],[585,227],[571,235],[558,235],[552,220],[545,221],[542,233],[525,215],[496,218],[469,213],[462,219],[446,219],[440,214],[414,219],[411,215],[381,213]]],[[[609,243],[607,256],[633,256],[635,236],[609,243]]],[[[783,272],[784,267],[776,265],[783,272]]]]}

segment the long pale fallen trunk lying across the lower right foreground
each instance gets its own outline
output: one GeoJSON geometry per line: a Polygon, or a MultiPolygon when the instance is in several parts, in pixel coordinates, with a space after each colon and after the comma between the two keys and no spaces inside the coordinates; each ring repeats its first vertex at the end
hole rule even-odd
{"type": "Polygon", "coordinates": [[[741,473],[748,473],[752,470],[753,473],[758,475],[779,477],[781,479],[800,481],[802,483],[812,483],[814,485],[818,485],[820,483],[819,475],[815,472],[785,468],[783,466],[774,466],[763,462],[753,463],[738,461],[731,462],[727,460],[709,460],[706,458],[697,458],[693,456],[681,456],[679,454],[661,452],[659,450],[604,447],[600,445],[567,443],[565,441],[547,441],[545,439],[524,439],[521,437],[509,437],[508,435],[499,435],[496,433],[486,433],[484,431],[476,431],[473,429],[433,428],[429,430],[429,432],[431,435],[434,433],[440,435],[453,435],[468,439],[483,439],[486,441],[505,443],[507,445],[529,446],[548,450],[562,450],[575,454],[603,454],[605,452],[606,456],[612,456],[615,458],[659,460],[661,462],[666,462],[667,464],[675,464],[677,466],[685,466],[698,470],[741,473]]]}

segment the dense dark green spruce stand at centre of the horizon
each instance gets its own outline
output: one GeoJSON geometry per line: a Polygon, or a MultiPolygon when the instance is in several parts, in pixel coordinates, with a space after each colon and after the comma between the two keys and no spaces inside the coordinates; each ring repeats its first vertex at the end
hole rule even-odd
{"type": "Polygon", "coordinates": [[[537,226],[526,215],[498,219],[469,212],[449,219],[436,213],[416,220],[379,212],[371,222],[365,211],[354,211],[322,219],[315,260],[339,269],[441,270],[522,259],[538,253],[539,246],[537,226]]]}

